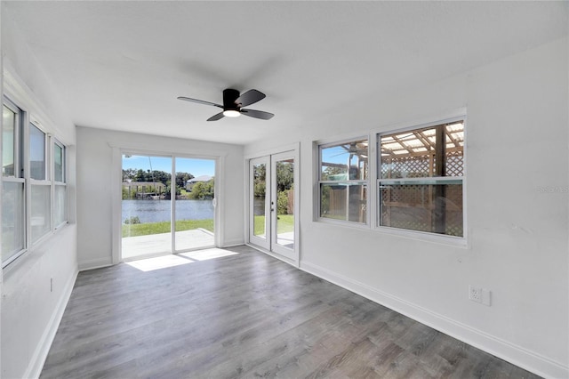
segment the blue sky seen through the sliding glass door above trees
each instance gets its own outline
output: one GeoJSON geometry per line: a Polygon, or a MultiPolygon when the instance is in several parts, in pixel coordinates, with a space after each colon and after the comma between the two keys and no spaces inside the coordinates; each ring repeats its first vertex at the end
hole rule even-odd
{"type": "MultiPolygon", "coordinates": [[[[149,170],[172,171],[172,158],[170,157],[149,157],[148,156],[123,156],[123,169],[134,168],[149,170]]],[[[195,159],[195,158],[176,158],[176,173],[191,173],[194,176],[215,175],[215,161],[212,159],[195,159]]]]}

